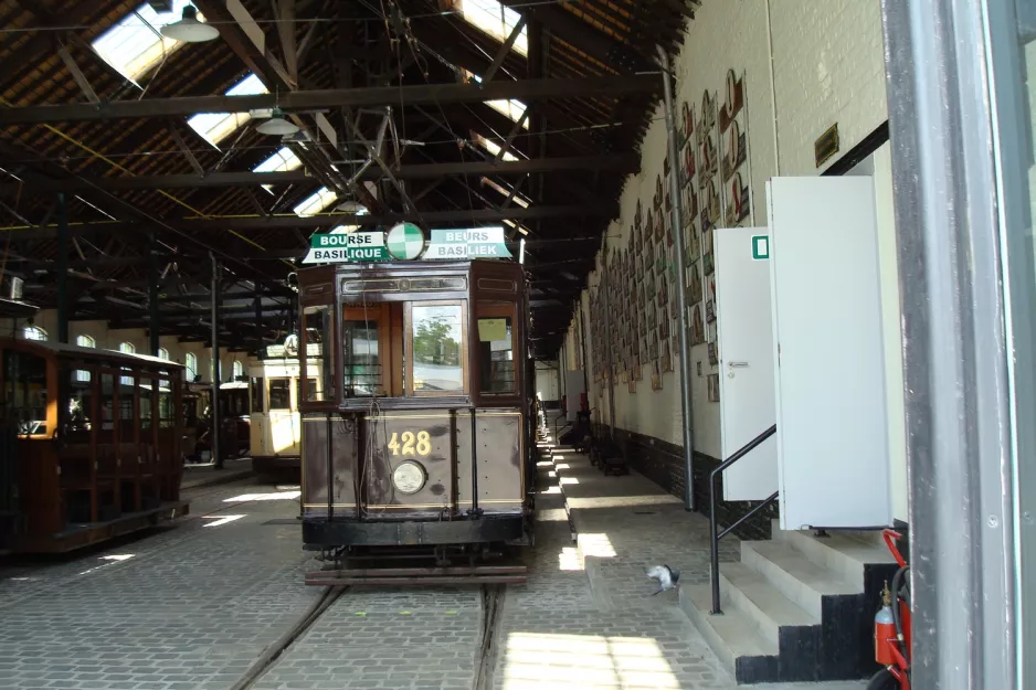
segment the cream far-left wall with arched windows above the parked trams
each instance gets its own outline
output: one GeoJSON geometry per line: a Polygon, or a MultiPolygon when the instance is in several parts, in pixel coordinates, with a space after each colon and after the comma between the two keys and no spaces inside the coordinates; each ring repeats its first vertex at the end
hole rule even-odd
{"type": "MultiPolygon", "coordinates": [[[[35,326],[46,331],[47,340],[57,338],[57,311],[54,309],[44,309],[33,319],[35,326]]],[[[22,337],[24,321],[19,320],[17,329],[18,337],[22,337]]],[[[11,322],[7,320],[3,328],[0,329],[3,336],[10,336],[11,322]]],[[[89,336],[102,350],[118,350],[124,342],[131,343],[138,354],[150,354],[148,352],[148,336],[142,328],[108,328],[106,321],[72,321],[68,323],[68,341],[75,343],[80,336],[89,336]]],[[[184,363],[184,357],[188,352],[193,352],[198,358],[198,373],[202,381],[211,381],[210,371],[212,367],[212,351],[203,347],[201,342],[180,342],[176,336],[162,336],[159,338],[159,346],[169,350],[169,359],[181,364],[184,363]]],[[[240,361],[247,373],[249,365],[255,358],[244,352],[220,352],[221,379],[226,381],[233,371],[234,361],[240,361]]]]}

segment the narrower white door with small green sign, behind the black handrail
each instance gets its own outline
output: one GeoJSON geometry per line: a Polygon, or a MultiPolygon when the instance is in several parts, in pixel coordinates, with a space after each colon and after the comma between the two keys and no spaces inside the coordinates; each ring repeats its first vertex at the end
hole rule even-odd
{"type": "MultiPolygon", "coordinates": [[[[770,236],[765,227],[726,227],[713,237],[723,459],[773,426],[770,236]]],[[[723,471],[723,500],[759,501],[778,490],[776,437],[723,471]]]]}

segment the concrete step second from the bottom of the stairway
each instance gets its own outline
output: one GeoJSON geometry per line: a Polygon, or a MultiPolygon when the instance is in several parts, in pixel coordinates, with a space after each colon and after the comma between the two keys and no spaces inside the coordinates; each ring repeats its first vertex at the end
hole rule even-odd
{"type": "Polygon", "coordinates": [[[743,563],[723,563],[719,567],[723,611],[744,614],[759,635],[780,645],[781,626],[820,625],[818,616],[792,602],[765,577],[743,563]]]}

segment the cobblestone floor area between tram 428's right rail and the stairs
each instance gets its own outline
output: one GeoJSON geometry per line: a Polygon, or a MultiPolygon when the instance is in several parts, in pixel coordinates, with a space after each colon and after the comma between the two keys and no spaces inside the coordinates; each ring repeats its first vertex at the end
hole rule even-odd
{"type": "MultiPolygon", "coordinates": [[[[604,477],[571,450],[557,450],[560,485],[537,502],[529,584],[508,590],[495,659],[496,690],[732,690],[733,678],[679,609],[651,596],[644,569],[669,563],[681,578],[708,581],[708,523],[635,473],[604,477]],[[579,549],[564,505],[579,530],[579,549]],[[545,510],[546,508],[546,510],[545,510]],[[560,514],[559,514],[560,513],[560,514]]],[[[737,540],[721,553],[738,558],[737,540]]],[[[865,683],[767,684],[759,690],[859,690],[865,683]]],[[[740,688],[748,688],[740,686],[740,688]]]]}

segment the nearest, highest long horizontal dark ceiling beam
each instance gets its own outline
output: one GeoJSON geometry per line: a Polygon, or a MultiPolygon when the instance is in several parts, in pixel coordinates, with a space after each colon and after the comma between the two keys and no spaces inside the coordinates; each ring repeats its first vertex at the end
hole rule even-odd
{"type": "Polygon", "coordinates": [[[65,104],[0,108],[0,126],[42,123],[97,121],[145,117],[190,116],[198,113],[246,113],[279,105],[285,112],[341,106],[377,107],[483,103],[518,98],[525,102],[583,96],[621,97],[656,93],[662,79],[654,74],[585,77],[579,79],[493,81],[488,84],[419,84],[371,88],[296,91],[251,96],[178,96],[101,104],[65,104]]]}

